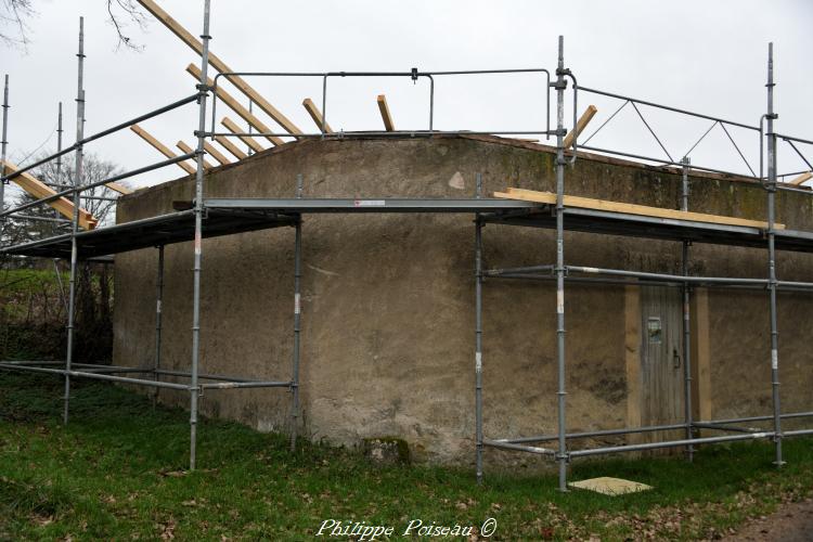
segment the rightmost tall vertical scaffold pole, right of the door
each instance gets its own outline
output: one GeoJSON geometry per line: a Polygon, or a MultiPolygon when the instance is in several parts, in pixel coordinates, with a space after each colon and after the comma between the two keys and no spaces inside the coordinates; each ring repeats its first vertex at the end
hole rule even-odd
{"type": "Polygon", "coordinates": [[[779,403],[779,332],[776,323],[776,134],[774,133],[774,44],[767,44],[767,289],[771,297],[771,391],[774,406],[776,466],[782,461],[782,405],[779,403]]]}

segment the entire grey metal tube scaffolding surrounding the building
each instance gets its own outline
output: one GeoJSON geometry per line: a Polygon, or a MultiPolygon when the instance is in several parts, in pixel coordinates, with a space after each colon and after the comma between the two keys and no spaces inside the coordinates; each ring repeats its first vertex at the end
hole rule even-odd
{"type": "MultiPolygon", "coordinates": [[[[214,85],[208,85],[209,67],[209,0],[204,0],[204,22],[203,22],[203,47],[201,60],[201,77],[195,92],[192,95],[182,98],[169,105],[141,115],[134,119],[127,120],[109,129],[86,137],[83,134],[85,117],[85,90],[83,90],[83,28],[80,20],[79,31],[79,50],[78,50],[78,89],[77,89],[77,133],[76,142],[65,149],[60,150],[41,160],[22,167],[16,171],[5,175],[2,171],[2,183],[0,183],[0,196],[2,186],[9,180],[33,170],[52,159],[61,160],[68,153],[76,153],[75,178],[72,186],[55,193],[48,197],[41,197],[36,202],[20,205],[11,209],[5,209],[4,205],[0,208],[0,219],[25,219],[27,218],[20,212],[30,209],[38,205],[48,204],[60,197],[72,197],[74,202],[74,217],[69,221],[70,231],[51,237],[36,240],[27,243],[5,246],[0,248],[0,254],[42,257],[42,258],[62,258],[70,262],[70,280],[67,294],[68,322],[67,322],[67,352],[65,361],[2,361],[0,369],[10,371],[30,371],[61,375],[64,377],[64,423],[68,422],[69,402],[70,402],[70,383],[72,378],[91,378],[109,380],[121,384],[152,387],[157,393],[158,389],[173,389],[189,393],[190,401],[190,469],[196,466],[196,440],[197,440],[197,421],[198,421],[198,397],[207,389],[246,389],[246,388],[286,388],[291,392],[291,449],[295,450],[297,430],[299,426],[299,366],[300,366],[300,326],[301,326],[301,302],[300,302],[300,279],[301,279],[301,229],[302,216],[311,214],[408,214],[408,212],[439,212],[439,214],[461,214],[474,217],[474,254],[475,254],[475,333],[474,333],[474,351],[475,351],[475,442],[476,442],[476,476],[478,481],[482,481],[483,476],[483,452],[485,449],[495,448],[511,451],[529,452],[549,456],[558,465],[558,488],[567,491],[567,468],[571,460],[578,457],[593,456],[608,453],[637,452],[644,450],[662,449],[662,448],[685,448],[688,459],[695,451],[697,444],[731,442],[737,440],[770,439],[775,446],[775,463],[780,466],[784,462],[782,453],[782,442],[786,437],[811,435],[813,429],[783,430],[782,420],[804,418],[813,416],[813,412],[795,412],[783,413],[780,408],[779,378],[778,378],[778,330],[777,330],[777,304],[776,294],[779,289],[792,291],[813,291],[813,283],[808,282],[789,282],[780,281],[777,278],[775,256],[776,250],[793,250],[803,253],[813,253],[813,233],[796,230],[777,229],[776,225],[776,192],[791,191],[811,195],[808,190],[780,185],[777,182],[779,177],[776,165],[776,145],[777,141],[787,142],[802,159],[810,166],[806,157],[798,150],[796,144],[813,144],[812,141],[789,136],[778,134],[774,131],[774,120],[777,115],[773,109],[773,48],[769,48],[769,69],[767,69],[767,113],[760,118],[759,126],[749,126],[735,122],[719,117],[679,109],[667,105],[646,102],[634,98],[620,94],[609,93],[596,89],[581,87],[578,85],[576,76],[570,69],[565,67],[564,61],[564,39],[559,37],[558,41],[558,62],[554,72],[555,79],[552,80],[551,72],[544,68],[528,69],[492,69],[492,70],[460,70],[460,72],[421,72],[413,68],[410,72],[353,72],[353,73],[238,73],[227,72],[218,74],[215,77],[214,85]],[[546,126],[545,128],[531,130],[491,130],[488,132],[472,131],[442,131],[435,129],[434,125],[434,78],[439,76],[452,75],[499,75],[531,73],[540,74],[545,78],[545,109],[546,126]],[[322,79],[322,122],[320,131],[317,133],[297,133],[298,139],[318,138],[318,139],[341,139],[358,136],[390,136],[390,137],[433,137],[442,134],[472,134],[472,133],[501,133],[501,134],[534,134],[545,136],[546,138],[556,138],[556,163],[555,163],[555,185],[556,201],[555,204],[542,204],[517,199],[498,199],[483,197],[482,194],[482,176],[477,175],[477,194],[473,198],[305,198],[302,197],[302,177],[296,179],[296,197],[295,198],[207,198],[204,193],[204,155],[206,154],[205,142],[207,138],[243,138],[246,136],[264,136],[264,137],[291,137],[292,133],[275,132],[257,132],[249,129],[249,132],[217,132],[215,129],[215,111],[217,103],[217,83],[219,77],[230,76],[257,76],[257,77],[319,77],[322,79]],[[382,132],[382,131],[360,131],[360,132],[338,132],[334,133],[327,130],[326,108],[327,108],[327,81],[332,77],[402,77],[416,81],[418,78],[426,78],[430,82],[429,88],[429,118],[428,128],[425,130],[410,130],[406,132],[382,132]],[[625,105],[631,104],[636,111],[641,120],[660,145],[667,155],[667,158],[649,157],[612,151],[599,147],[591,147],[578,144],[578,130],[572,132],[572,146],[566,144],[565,129],[565,94],[568,90],[568,81],[572,89],[572,114],[573,127],[577,126],[578,94],[594,93],[612,99],[622,100],[623,104],[618,111],[625,105]],[[556,103],[556,127],[551,128],[550,109],[551,92],[555,92],[556,103]],[[211,107],[211,126],[207,129],[207,101],[210,93],[214,96],[211,107]],[[195,131],[197,146],[194,152],[185,153],[159,163],[149,165],[126,173],[117,175],[103,181],[81,184],[82,169],[82,151],[86,144],[112,134],[119,130],[126,129],[133,124],[157,117],[164,113],[175,111],[188,104],[196,103],[198,108],[198,124],[195,131]],[[658,136],[651,129],[641,114],[637,105],[647,105],[661,108],[680,115],[688,115],[695,118],[701,118],[712,121],[711,128],[720,126],[726,134],[727,127],[739,127],[753,131],[760,138],[760,166],[759,175],[751,168],[745,155],[728,134],[728,139],[734,144],[739,156],[752,172],[751,179],[759,182],[766,193],[767,222],[766,228],[753,228],[745,225],[731,225],[720,223],[709,223],[694,221],[689,219],[669,219],[658,217],[647,217],[641,215],[625,214],[622,211],[605,211],[571,207],[565,205],[565,169],[568,164],[572,165],[577,157],[578,151],[586,150],[603,154],[615,154],[623,157],[632,157],[657,164],[673,166],[682,173],[682,194],[681,209],[689,208],[689,182],[688,175],[692,169],[706,172],[733,173],[731,171],[720,170],[699,165],[692,165],[689,160],[691,152],[702,141],[711,130],[700,138],[695,145],[685,154],[685,156],[675,160],[662,144],[658,136]],[[765,130],[766,128],[766,130],[765,130]],[[767,140],[767,175],[763,176],[763,141],[767,140]],[[95,230],[79,230],[79,203],[81,193],[101,186],[109,182],[115,182],[130,177],[164,168],[183,160],[194,158],[196,170],[194,175],[194,198],[182,208],[172,212],[159,215],[156,217],[133,220],[130,222],[119,223],[95,230]],[[526,228],[541,228],[555,231],[555,253],[556,259],[553,263],[541,263],[537,266],[526,266],[521,268],[504,269],[486,269],[483,266],[483,228],[486,224],[505,224],[526,228]],[[202,373],[201,369],[201,273],[203,259],[203,238],[220,235],[232,235],[242,232],[268,230],[274,228],[293,228],[295,230],[294,238],[294,314],[293,314],[293,354],[291,360],[291,377],[284,380],[273,379],[253,379],[233,375],[218,375],[202,373]],[[620,236],[635,236],[656,240],[667,240],[682,244],[682,273],[667,274],[653,272],[637,272],[620,269],[602,269],[566,264],[565,258],[565,231],[579,231],[588,233],[611,234],[620,236]],[[194,267],[193,267],[193,309],[192,309],[192,356],[189,371],[168,370],[162,366],[162,313],[164,300],[164,248],[166,245],[181,242],[193,242],[194,247],[194,267]],[[727,276],[695,276],[689,274],[689,247],[693,243],[707,243],[718,245],[733,245],[746,247],[759,247],[766,249],[767,254],[767,276],[764,279],[740,279],[727,276]],[[76,273],[77,262],[79,259],[96,258],[112,254],[118,254],[129,250],[155,248],[157,250],[157,269],[156,269],[156,309],[155,309],[155,354],[152,366],[113,366],[93,363],[77,363],[74,361],[74,336],[75,336],[75,297],[76,297],[76,273]],[[586,276],[585,276],[586,275],[586,276]],[[542,280],[554,281],[556,283],[556,375],[557,375],[557,424],[556,433],[552,435],[540,436],[519,436],[519,437],[501,437],[488,438],[483,434],[483,322],[482,322],[482,292],[486,279],[489,280],[542,280]],[[645,427],[625,427],[617,429],[602,429],[594,431],[567,431],[566,416],[566,352],[565,352],[565,334],[566,334],[566,284],[568,282],[589,282],[593,284],[635,284],[641,285],[646,281],[647,284],[670,284],[682,288],[682,340],[684,348],[685,362],[683,364],[684,380],[684,420],[680,423],[645,426],[645,427]],[[766,289],[769,293],[770,304],[770,326],[771,326],[771,389],[772,389],[772,412],[763,416],[750,416],[728,420],[693,420],[692,410],[692,367],[689,351],[692,336],[689,331],[691,311],[689,297],[693,287],[741,287],[766,289]],[[142,377],[122,376],[122,375],[144,375],[142,377]],[[182,378],[188,382],[167,382],[164,377],[182,378]],[[750,422],[771,422],[771,430],[760,430],[748,427],[740,427],[739,424],[750,422]],[[725,435],[712,437],[697,436],[698,429],[712,429],[723,431],[725,435]],[[570,449],[569,442],[573,440],[590,437],[610,437],[610,436],[629,436],[633,434],[655,433],[664,430],[680,430],[684,438],[678,440],[664,440],[658,442],[647,442],[637,444],[617,444],[605,446],[601,448],[589,449],[570,449]],[[555,442],[555,447],[545,448],[538,446],[545,442],[555,442]]],[[[5,79],[5,89],[3,98],[3,125],[2,125],[2,159],[3,164],[7,156],[7,132],[8,132],[8,108],[9,108],[9,82],[5,79]]],[[[618,113],[612,114],[605,125],[618,113]]],[[[61,112],[61,108],[60,108],[61,112]]],[[[601,130],[602,125],[597,130],[601,130]]],[[[596,133],[593,132],[593,136],[596,133]]],[[[61,134],[60,134],[61,136],[61,134]]],[[[593,137],[588,138],[588,141],[593,137]]],[[[60,138],[61,141],[61,138],[60,138]]],[[[61,162],[60,162],[61,164],[61,162]]],[[[811,167],[813,169],[813,167],[811,167]]],[[[792,173],[786,173],[792,175],[792,173]]],[[[153,395],[155,400],[155,395],[153,395]]]]}

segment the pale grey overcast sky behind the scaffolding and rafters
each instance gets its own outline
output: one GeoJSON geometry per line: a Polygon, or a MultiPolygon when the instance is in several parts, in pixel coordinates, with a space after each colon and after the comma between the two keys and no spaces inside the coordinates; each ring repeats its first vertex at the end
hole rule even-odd
{"type": "MultiPolygon", "coordinates": [[[[202,0],[159,4],[193,35],[201,34],[202,0]]],[[[117,51],[103,0],[36,0],[35,5],[38,14],[29,22],[27,50],[0,46],[0,74],[11,78],[9,142],[14,162],[25,162],[40,145],[55,149],[60,101],[65,141],[74,140],[79,15],[86,21],[86,134],[194,92],[184,68],[198,63],[198,56],[149,14],[146,31],[127,28],[144,48],[136,53],[117,51]]],[[[211,14],[211,49],[235,70],[553,69],[562,34],[566,65],[582,86],[750,125],[765,112],[767,42],[774,41],[777,131],[813,139],[813,2],[805,0],[212,0],[211,14]]],[[[315,131],[301,101],[310,96],[321,103],[319,80],[250,82],[302,130],[315,131]]],[[[382,129],[375,102],[379,93],[387,94],[397,129],[427,127],[426,83],[379,78],[332,81],[330,124],[335,130],[382,129]]],[[[584,94],[579,108],[590,103],[598,107],[598,115],[586,134],[622,102],[584,94]]],[[[647,107],[641,111],[675,159],[710,126],[647,107]]],[[[222,112],[219,108],[219,117],[222,112]]],[[[175,147],[179,139],[194,143],[195,119],[195,108],[186,106],[143,127],[175,147]]],[[[544,83],[535,75],[439,78],[435,122],[439,129],[543,129],[544,83]]],[[[572,124],[569,113],[566,124],[572,124]]],[[[756,169],[758,138],[736,129],[731,133],[756,169]]],[[[591,144],[663,156],[629,106],[591,144]]],[[[162,159],[129,130],[88,151],[127,169],[162,159]]],[[[813,145],[802,151],[813,162],[813,145]]],[[[719,127],[692,159],[748,171],[719,127]]],[[[783,149],[779,169],[805,167],[792,151],[783,149]]],[[[181,173],[173,166],[134,184],[181,173]]]]}

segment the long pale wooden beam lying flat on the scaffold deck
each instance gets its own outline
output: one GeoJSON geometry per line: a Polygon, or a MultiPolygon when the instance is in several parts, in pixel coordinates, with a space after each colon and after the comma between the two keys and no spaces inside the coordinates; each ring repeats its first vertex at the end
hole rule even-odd
{"type": "MultiPolygon", "coordinates": [[[[556,194],[552,192],[537,192],[534,190],[507,189],[508,192],[494,192],[494,197],[505,199],[521,199],[525,202],[537,202],[555,204],[556,194]]],[[[670,218],[674,220],[692,220],[694,222],[708,222],[713,224],[741,225],[746,228],[767,229],[767,222],[759,220],[747,220],[744,218],[723,217],[720,215],[706,215],[675,209],[663,209],[661,207],[648,207],[646,205],[610,202],[607,199],[593,199],[590,197],[565,196],[566,207],[579,207],[582,209],[595,209],[609,212],[624,212],[627,215],[640,215],[645,217],[670,218]]],[[[784,230],[785,224],[775,224],[777,230],[784,230]]]]}

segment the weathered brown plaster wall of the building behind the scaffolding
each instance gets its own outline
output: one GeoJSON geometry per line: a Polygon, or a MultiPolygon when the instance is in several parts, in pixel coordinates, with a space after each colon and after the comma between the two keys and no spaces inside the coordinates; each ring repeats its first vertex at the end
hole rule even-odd
{"type": "MultiPolygon", "coordinates": [[[[211,197],[292,197],[296,175],[309,197],[468,197],[476,172],[488,193],[505,186],[552,190],[554,159],[541,145],[491,138],[306,141],[256,155],[207,176],[211,197]],[[460,173],[464,186],[450,180],[460,173]],[[455,184],[455,183],[452,183],[455,184]]],[[[662,168],[580,158],[566,191],[678,208],[680,176],[662,168]]],[[[764,192],[738,180],[694,178],[693,210],[763,219],[764,192]]],[[[171,210],[189,201],[184,178],[120,199],[118,220],[171,210]]],[[[813,229],[812,198],[780,194],[778,217],[813,229]]],[[[354,444],[400,436],[418,460],[467,463],[474,435],[474,228],[470,216],[312,215],[302,234],[301,398],[305,433],[354,444]]],[[[285,379],[293,328],[291,228],[204,241],[202,371],[285,379]]],[[[680,271],[680,244],[566,234],[571,264],[680,271]]],[[[486,267],[550,263],[553,234],[488,225],[486,267]]],[[[157,250],[116,260],[115,361],[152,365],[157,250]]],[[[764,250],[696,245],[696,274],[762,276],[764,250]]],[[[188,369],[192,251],[166,248],[163,365],[188,369]]],[[[779,258],[788,280],[809,280],[813,259],[779,258]]],[[[485,405],[490,437],[555,429],[555,293],[552,284],[489,281],[485,287],[485,405]]],[[[811,315],[806,296],[782,296],[780,330],[811,315]],[[787,301],[787,304],[786,304],[787,301]]],[[[714,415],[762,413],[770,398],[767,298],[710,296],[714,415]]],[[[627,423],[623,287],[572,285],[567,294],[570,428],[627,423]]],[[[782,337],[786,404],[803,406],[813,388],[801,334],[782,337]]],[[[162,391],[185,405],[185,396],[162,391]]],[[[206,415],[285,428],[280,389],[207,391],[206,415]]],[[[493,452],[489,452],[493,453],[493,452]]],[[[533,459],[512,455],[511,461],[533,459]]]]}

